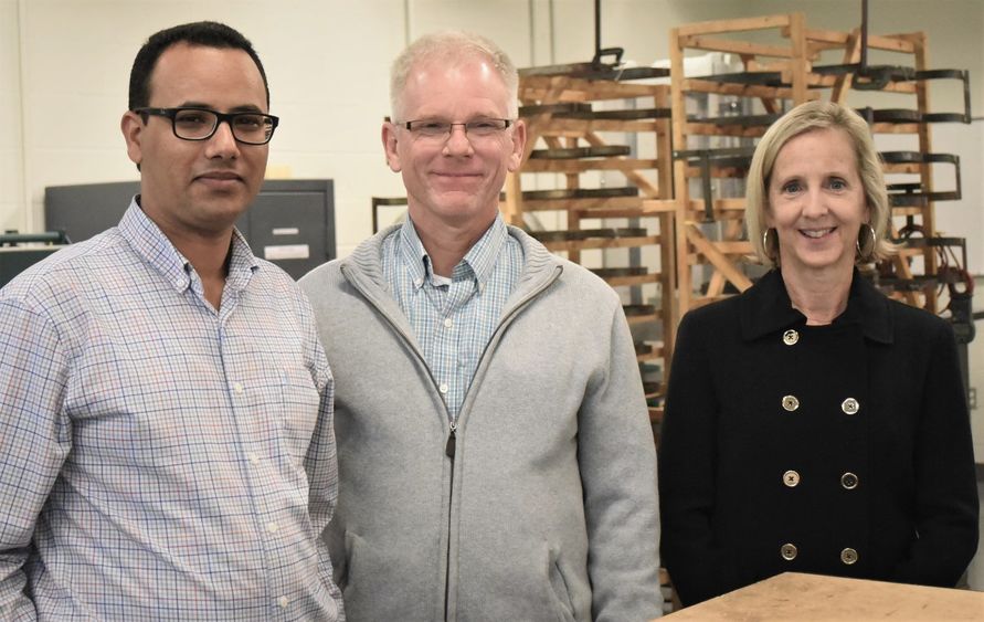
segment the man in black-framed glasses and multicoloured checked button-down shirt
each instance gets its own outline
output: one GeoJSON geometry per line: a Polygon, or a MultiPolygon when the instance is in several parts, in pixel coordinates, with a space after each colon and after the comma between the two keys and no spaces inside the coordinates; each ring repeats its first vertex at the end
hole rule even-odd
{"type": "Polygon", "coordinates": [[[234,226],[268,108],[235,30],[151,35],[121,120],[140,194],[0,291],[3,620],[345,620],[331,372],[234,226]]]}

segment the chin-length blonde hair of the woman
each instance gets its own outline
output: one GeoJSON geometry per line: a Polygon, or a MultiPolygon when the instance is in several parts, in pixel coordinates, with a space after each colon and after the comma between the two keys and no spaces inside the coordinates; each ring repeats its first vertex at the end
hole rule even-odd
{"type": "Polygon", "coordinates": [[[854,145],[857,156],[858,177],[865,189],[865,202],[870,210],[871,229],[875,231],[872,260],[884,260],[895,252],[888,241],[891,205],[885,187],[881,159],[875,150],[868,124],[853,109],[833,102],[807,102],[783,115],[772,124],[759,144],[749,169],[745,187],[744,220],[749,241],[755,255],[765,265],[776,265],[779,257],[769,256],[764,246],[765,213],[769,209],[769,180],[780,150],[791,139],[818,129],[839,128],[854,145]]]}

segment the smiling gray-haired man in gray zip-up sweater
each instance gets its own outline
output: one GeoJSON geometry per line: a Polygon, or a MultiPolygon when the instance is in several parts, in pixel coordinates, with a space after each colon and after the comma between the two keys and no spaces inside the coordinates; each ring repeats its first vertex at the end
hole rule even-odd
{"type": "Polygon", "coordinates": [[[349,620],[659,615],[656,464],[618,296],[498,215],[516,70],[428,35],[394,63],[409,220],[301,280],[332,366],[349,620]]]}

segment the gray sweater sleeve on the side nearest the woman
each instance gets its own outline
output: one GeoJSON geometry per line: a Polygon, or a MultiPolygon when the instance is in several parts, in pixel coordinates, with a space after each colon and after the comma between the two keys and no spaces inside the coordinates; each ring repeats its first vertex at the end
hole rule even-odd
{"type": "Polygon", "coordinates": [[[589,384],[578,430],[592,619],[659,616],[656,449],[621,306],[613,314],[609,369],[589,384]]]}

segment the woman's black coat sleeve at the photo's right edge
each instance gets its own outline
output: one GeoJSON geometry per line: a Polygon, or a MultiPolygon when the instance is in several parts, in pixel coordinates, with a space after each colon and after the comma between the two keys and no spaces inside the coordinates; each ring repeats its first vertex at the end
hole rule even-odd
{"type": "Polygon", "coordinates": [[[977,484],[971,424],[953,331],[932,338],[913,458],[918,537],[893,579],[953,587],[977,549],[977,484]]]}

